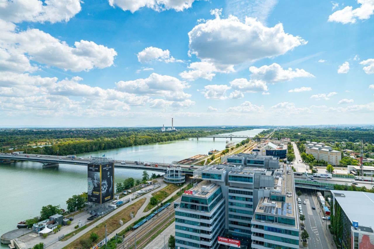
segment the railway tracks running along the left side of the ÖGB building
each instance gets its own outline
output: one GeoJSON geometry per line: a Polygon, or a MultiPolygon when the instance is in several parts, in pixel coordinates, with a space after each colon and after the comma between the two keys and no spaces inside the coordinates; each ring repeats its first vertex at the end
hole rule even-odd
{"type": "MultiPolygon", "coordinates": [[[[159,223],[164,221],[165,219],[169,219],[169,212],[170,211],[170,218],[174,217],[174,208],[171,208],[170,206],[165,209],[166,211],[163,212],[160,216],[158,216],[156,219],[150,220],[148,222],[145,222],[141,227],[138,227],[135,230],[135,233],[131,234],[129,238],[125,238],[121,244],[117,246],[117,248],[125,249],[125,248],[131,248],[135,245],[135,238],[137,240],[141,240],[144,236],[147,235],[147,233],[153,228],[156,227],[159,223]]],[[[152,235],[151,235],[152,236],[152,235]]],[[[148,238],[147,238],[148,239],[148,238]]],[[[137,244],[137,248],[138,248],[137,244]]]]}

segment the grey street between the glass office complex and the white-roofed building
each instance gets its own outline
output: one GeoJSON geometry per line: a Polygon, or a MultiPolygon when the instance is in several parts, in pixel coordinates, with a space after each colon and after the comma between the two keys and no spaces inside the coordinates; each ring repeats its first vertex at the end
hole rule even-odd
{"type": "Polygon", "coordinates": [[[305,229],[307,230],[310,237],[310,239],[308,240],[308,248],[335,249],[335,245],[331,245],[331,236],[329,236],[329,231],[326,230],[326,221],[322,219],[321,215],[323,214],[319,210],[319,205],[316,198],[314,198],[314,192],[310,190],[303,190],[302,192],[303,194],[300,196],[300,199],[303,214],[305,215],[304,224],[305,229]],[[304,200],[306,204],[303,204],[304,200]],[[312,206],[316,207],[316,210],[313,210],[312,206]]]}

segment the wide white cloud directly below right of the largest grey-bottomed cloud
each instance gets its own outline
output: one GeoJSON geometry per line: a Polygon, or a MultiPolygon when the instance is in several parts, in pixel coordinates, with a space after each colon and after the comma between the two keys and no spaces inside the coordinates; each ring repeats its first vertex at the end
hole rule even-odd
{"type": "Polygon", "coordinates": [[[251,79],[264,80],[267,83],[284,82],[298,77],[314,77],[313,74],[304,69],[296,68],[293,71],[292,68],[288,68],[288,70],[284,70],[281,65],[276,63],[269,66],[264,65],[260,68],[252,66],[249,71],[252,73],[251,79]]]}

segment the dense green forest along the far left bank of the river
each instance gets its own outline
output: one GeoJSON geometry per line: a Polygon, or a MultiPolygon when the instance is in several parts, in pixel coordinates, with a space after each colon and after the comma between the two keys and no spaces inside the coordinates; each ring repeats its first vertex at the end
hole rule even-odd
{"type": "MultiPolygon", "coordinates": [[[[27,153],[57,155],[88,153],[98,150],[174,141],[204,135],[236,132],[253,127],[182,127],[178,131],[161,132],[158,128],[99,129],[9,129],[0,132],[0,147],[16,147],[27,153]],[[49,144],[43,148],[31,145],[49,144]],[[30,145],[30,146],[27,146],[30,145]]],[[[258,127],[257,127],[258,128],[258,127]]]]}

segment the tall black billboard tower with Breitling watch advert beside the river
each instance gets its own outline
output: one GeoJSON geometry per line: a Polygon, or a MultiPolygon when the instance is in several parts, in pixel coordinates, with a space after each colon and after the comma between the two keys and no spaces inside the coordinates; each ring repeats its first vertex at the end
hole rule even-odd
{"type": "Polygon", "coordinates": [[[89,163],[88,202],[102,204],[114,198],[114,163],[89,163]]]}

